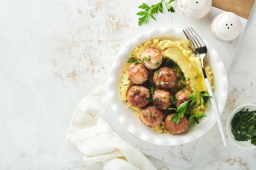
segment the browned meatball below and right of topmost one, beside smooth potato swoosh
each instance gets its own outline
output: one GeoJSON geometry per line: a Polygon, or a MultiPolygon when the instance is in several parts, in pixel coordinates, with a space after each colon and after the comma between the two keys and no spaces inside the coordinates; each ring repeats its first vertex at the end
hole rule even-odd
{"type": "Polygon", "coordinates": [[[173,88],[176,86],[176,73],[169,67],[159,68],[154,72],[153,81],[160,88],[173,88]]]}

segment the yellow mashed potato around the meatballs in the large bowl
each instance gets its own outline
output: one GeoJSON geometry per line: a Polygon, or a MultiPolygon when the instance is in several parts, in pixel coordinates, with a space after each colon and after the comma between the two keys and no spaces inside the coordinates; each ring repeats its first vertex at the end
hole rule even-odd
{"type": "MultiPolygon", "coordinates": [[[[147,47],[147,46],[153,46],[157,49],[159,49],[163,56],[170,59],[172,62],[177,64],[177,66],[180,67],[183,75],[184,75],[184,80],[180,82],[179,85],[181,86],[184,85],[185,88],[189,91],[191,91],[193,94],[195,93],[194,87],[197,91],[206,91],[207,92],[207,87],[204,82],[204,77],[202,73],[202,66],[201,66],[201,61],[200,57],[197,57],[194,55],[193,51],[189,48],[189,42],[187,40],[182,40],[182,41],[171,41],[171,40],[161,40],[159,39],[154,39],[153,41],[147,41],[141,46],[135,47],[134,51],[130,54],[130,56],[127,58],[129,60],[130,58],[134,59],[139,59],[141,52],[147,47]]],[[[133,107],[130,106],[130,104],[127,102],[127,91],[129,87],[132,85],[132,82],[130,79],[128,79],[128,67],[132,63],[127,63],[123,74],[122,74],[122,80],[121,80],[121,99],[122,101],[127,103],[127,106],[135,110],[135,115],[139,117],[139,110],[141,108],[138,107],[133,107]]],[[[205,63],[204,65],[205,71],[207,73],[207,77],[209,79],[209,82],[211,84],[212,81],[212,71],[209,67],[208,64],[205,63]]],[[[179,87],[178,87],[179,88],[179,87]]],[[[212,87],[213,88],[213,87],[212,87]]],[[[199,98],[199,97],[198,97],[199,98]]],[[[194,113],[203,113],[204,110],[207,108],[206,106],[203,106],[198,104],[194,110],[194,113]]],[[[153,128],[157,132],[168,132],[165,129],[164,122],[159,124],[159,126],[156,126],[153,128]]]]}

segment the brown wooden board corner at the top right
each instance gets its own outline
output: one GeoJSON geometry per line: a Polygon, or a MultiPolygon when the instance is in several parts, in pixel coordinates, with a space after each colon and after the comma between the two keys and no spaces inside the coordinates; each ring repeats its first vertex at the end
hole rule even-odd
{"type": "Polygon", "coordinates": [[[212,0],[212,6],[248,19],[254,0],[212,0]]]}

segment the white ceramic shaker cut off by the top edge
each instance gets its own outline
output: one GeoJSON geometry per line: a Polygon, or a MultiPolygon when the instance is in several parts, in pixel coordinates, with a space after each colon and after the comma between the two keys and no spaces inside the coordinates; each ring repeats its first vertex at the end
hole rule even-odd
{"type": "Polygon", "coordinates": [[[200,19],[211,10],[212,0],[178,0],[180,12],[190,19],[200,19]]]}

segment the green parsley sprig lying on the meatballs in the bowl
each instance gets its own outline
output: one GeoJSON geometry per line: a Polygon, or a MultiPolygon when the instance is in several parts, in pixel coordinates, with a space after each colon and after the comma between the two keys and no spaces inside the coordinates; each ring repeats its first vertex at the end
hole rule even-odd
{"type": "MultiPolygon", "coordinates": [[[[180,106],[176,109],[176,108],[168,108],[169,110],[175,110],[176,113],[175,115],[173,115],[171,117],[171,121],[176,122],[177,124],[180,122],[180,117],[183,117],[185,114],[188,115],[188,121],[192,124],[195,124],[195,122],[197,124],[199,124],[198,120],[201,119],[202,117],[205,117],[207,115],[205,115],[204,113],[194,113],[194,109],[195,106],[197,105],[197,101],[198,101],[198,95],[197,93],[199,93],[200,99],[199,99],[199,104],[201,105],[206,105],[207,99],[209,97],[211,97],[209,95],[209,93],[204,92],[204,91],[197,91],[195,88],[195,94],[189,94],[189,100],[180,104],[180,106]]],[[[173,104],[177,103],[177,98],[171,97],[171,100],[173,102],[173,104]]]]}

